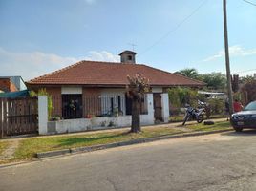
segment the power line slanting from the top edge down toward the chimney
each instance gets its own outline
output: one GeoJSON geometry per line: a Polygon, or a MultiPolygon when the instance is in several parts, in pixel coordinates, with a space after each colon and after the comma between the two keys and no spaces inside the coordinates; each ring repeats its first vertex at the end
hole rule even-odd
{"type": "MultiPolygon", "coordinates": [[[[152,44],[150,47],[148,47],[144,52],[139,53],[139,56],[142,55],[142,54],[144,54],[144,53],[147,53],[149,50],[151,50],[153,47],[155,47],[156,45],[158,45],[158,44],[160,43],[160,41],[162,41],[164,38],[166,38],[166,37],[167,37],[168,35],[170,35],[171,33],[176,32],[176,31],[181,27],[181,25],[182,25],[183,23],[185,23],[191,16],[193,16],[197,11],[199,11],[200,8],[203,7],[203,5],[206,3],[206,1],[207,1],[207,0],[203,0],[203,1],[201,2],[201,4],[200,4],[194,11],[192,11],[190,14],[188,14],[183,20],[181,20],[181,22],[180,22],[179,24],[177,24],[177,26],[176,26],[174,29],[170,30],[169,32],[167,32],[166,34],[164,34],[163,36],[161,36],[159,40],[157,40],[155,43],[153,43],[153,44],[152,44]]],[[[138,56],[138,57],[139,57],[139,56],[138,56]]]]}

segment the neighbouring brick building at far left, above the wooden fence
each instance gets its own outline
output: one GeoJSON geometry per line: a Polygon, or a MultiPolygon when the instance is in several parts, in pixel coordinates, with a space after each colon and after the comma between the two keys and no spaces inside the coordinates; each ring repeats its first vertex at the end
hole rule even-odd
{"type": "Polygon", "coordinates": [[[26,90],[21,76],[0,76],[0,91],[9,93],[26,90]]]}

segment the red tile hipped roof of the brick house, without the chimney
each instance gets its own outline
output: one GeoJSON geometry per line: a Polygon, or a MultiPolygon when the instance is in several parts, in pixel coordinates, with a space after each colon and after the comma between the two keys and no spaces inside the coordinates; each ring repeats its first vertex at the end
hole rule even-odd
{"type": "Polygon", "coordinates": [[[142,74],[152,86],[203,86],[204,83],[142,64],[80,61],[74,65],[34,78],[28,85],[124,86],[127,75],[142,74]]]}

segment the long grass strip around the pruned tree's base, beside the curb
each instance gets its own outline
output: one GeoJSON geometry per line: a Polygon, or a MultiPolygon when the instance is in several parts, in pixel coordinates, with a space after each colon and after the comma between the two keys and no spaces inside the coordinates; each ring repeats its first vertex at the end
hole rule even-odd
{"type": "Polygon", "coordinates": [[[38,152],[92,146],[137,138],[152,138],[178,133],[181,133],[181,130],[168,127],[154,127],[142,129],[142,132],[139,134],[128,133],[127,131],[120,130],[117,132],[95,133],[90,135],[27,138],[20,141],[19,148],[16,150],[14,157],[15,159],[31,159],[34,157],[35,153],[38,152]]]}

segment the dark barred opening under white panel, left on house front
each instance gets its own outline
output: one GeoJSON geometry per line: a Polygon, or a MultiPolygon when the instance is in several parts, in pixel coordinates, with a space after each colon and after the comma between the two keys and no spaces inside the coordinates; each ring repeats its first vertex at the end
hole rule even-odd
{"type": "Polygon", "coordinates": [[[81,118],[82,117],[82,95],[62,95],[62,117],[81,118]]]}

